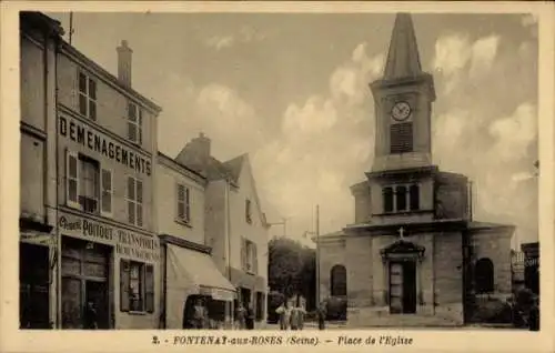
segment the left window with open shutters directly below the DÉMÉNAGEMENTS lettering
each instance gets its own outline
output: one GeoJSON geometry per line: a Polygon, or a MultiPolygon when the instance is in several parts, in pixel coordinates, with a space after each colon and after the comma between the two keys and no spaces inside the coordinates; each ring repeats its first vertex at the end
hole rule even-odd
{"type": "Polygon", "coordinates": [[[112,214],[112,171],[89,157],[67,154],[67,204],[88,213],[112,214]]]}

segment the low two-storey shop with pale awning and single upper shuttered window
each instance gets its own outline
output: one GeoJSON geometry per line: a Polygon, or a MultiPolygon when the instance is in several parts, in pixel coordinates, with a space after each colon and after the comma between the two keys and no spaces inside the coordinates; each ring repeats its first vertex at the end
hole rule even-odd
{"type": "Polygon", "coordinates": [[[159,153],[157,203],[161,244],[162,327],[193,329],[194,306],[206,309],[204,329],[230,329],[235,288],[216,268],[205,238],[206,179],[159,153]]]}

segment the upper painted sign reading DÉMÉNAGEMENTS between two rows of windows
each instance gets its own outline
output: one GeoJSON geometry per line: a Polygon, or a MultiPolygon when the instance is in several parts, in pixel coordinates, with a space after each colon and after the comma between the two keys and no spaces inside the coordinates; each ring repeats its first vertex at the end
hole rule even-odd
{"type": "Polygon", "coordinates": [[[69,138],[71,141],[77,142],[83,147],[89,148],[91,151],[103,154],[104,157],[117,161],[132,170],[150,175],[151,163],[148,159],[139,155],[137,152],[129,151],[112,139],[89,129],[81,122],[70,118],[60,117],[59,133],[69,138]]]}

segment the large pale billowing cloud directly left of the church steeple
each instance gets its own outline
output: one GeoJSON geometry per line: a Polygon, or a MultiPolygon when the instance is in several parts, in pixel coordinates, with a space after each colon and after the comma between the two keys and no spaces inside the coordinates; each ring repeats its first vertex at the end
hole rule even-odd
{"type": "Polygon", "coordinates": [[[349,186],[364,178],[373,149],[373,108],[367,84],[383,70],[384,53],[369,56],[361,43],[330,74],[329,92],[291,103],[282,133],[255,153],[259,188],[281,216],[292,216],[290,231],[312,230],[321,205],[323,233],[353,221],[349,186]]]}

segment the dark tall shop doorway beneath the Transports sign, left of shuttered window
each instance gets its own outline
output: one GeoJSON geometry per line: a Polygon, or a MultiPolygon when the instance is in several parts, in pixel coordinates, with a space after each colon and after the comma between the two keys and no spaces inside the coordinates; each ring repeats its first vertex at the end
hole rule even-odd
{"type": "Polygon", "coordinates": [[[62,239],[62,329],[112,326],[110,256],[110,246],[62,239]]]}

